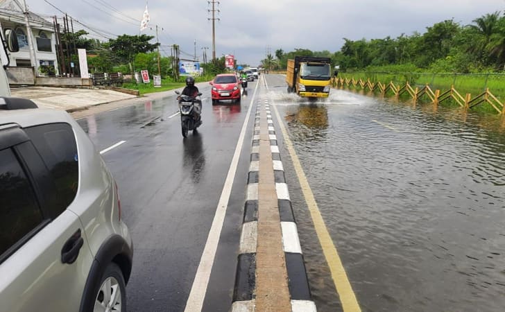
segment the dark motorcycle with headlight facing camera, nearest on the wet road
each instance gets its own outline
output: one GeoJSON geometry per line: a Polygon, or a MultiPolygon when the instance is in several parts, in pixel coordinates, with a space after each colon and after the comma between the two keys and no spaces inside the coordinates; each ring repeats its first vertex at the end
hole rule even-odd
{"type": "Polygon", "coordinates": [[[179,100],[182,137],[187,137],[189,130],[192,130],[194,133],[196,132],[196,128],[202,124],[202,101],[199,98],[202,93],[198,92],[198,96],[187,96],[176,91],[176,94],[178,94],[179,100]]]}

